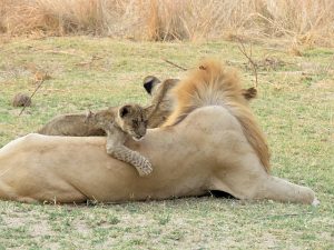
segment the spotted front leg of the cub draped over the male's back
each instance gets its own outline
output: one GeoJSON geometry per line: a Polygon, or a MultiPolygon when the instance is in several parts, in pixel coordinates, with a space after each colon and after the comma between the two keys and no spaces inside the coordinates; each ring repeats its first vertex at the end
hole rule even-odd
{"type": "Polygon", "coordinates": [[[107,153],[134,166],[140,177],[148,176],[153,171],[151,163],[139,152],[124,146],[126,137],[124,133],[108,133],[106,144],[107,153]]]}

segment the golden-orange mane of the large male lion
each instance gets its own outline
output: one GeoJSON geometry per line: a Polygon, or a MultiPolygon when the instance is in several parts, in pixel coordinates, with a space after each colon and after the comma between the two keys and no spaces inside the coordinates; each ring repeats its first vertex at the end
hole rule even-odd
{"type": "Polygon", "coordinates": [[[244,96],[239,78],[235,70],[216,60],[203,61],[174,89],[176,106],[164,127],[175,126],[191,111],[205,106],[222,106],[237,118],[248,142],[269,171],[269,150],[248,102],[244,96]]]}

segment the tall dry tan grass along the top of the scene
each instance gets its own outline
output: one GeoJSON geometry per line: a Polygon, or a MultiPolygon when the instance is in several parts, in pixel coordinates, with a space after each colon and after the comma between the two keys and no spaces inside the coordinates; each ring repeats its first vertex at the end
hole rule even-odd
{"type": "Polygon", "coordinates": [[[333,0],[0,0],[0,32],[334,46],[333,0]]]}

